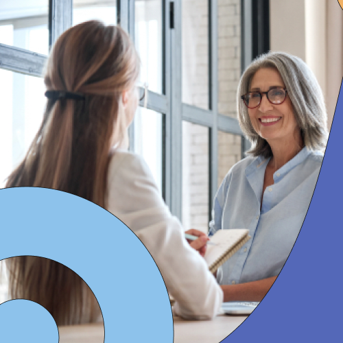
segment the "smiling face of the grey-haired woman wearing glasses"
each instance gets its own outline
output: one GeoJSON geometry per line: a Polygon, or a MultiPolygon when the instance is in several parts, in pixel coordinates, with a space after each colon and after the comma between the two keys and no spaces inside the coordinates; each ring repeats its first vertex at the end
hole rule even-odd
{"type": "MultiPolygon", "coordinates": [[[[261,68],[252,77],[249,91],[267,92],[275,87],[285,88],[279,71],[261,68]]],[[[274,143],[289,145],[300,137],[300,129],[288,95],[282,104],[276,105],[271,104],[263,94],[259,106],[248,108],[248,115],[254,130],[271,146],[274,143]]]]}

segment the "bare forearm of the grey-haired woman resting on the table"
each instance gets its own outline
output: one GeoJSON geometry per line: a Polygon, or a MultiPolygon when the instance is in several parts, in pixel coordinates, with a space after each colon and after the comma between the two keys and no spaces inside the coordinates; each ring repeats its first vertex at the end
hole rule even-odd
{"type": "Polygon", "coordinates": [[[224,302],[227,301],[261,301],[272,287],[277,276],[259,281],[239,283],[237,285],[222,285],[224,302]]]}

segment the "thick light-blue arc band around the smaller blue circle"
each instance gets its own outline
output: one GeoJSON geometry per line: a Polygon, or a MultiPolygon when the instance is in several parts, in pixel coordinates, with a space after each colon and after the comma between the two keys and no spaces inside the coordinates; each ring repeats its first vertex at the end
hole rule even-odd
{"type": "Polygon", "coordinates": [[[33,187],[1,189],[0,209],[0,260],[46,257],[80,275],[102,309],[105,342],[173,342],[161,273],[114,215],[69,193],[33,187]]]}

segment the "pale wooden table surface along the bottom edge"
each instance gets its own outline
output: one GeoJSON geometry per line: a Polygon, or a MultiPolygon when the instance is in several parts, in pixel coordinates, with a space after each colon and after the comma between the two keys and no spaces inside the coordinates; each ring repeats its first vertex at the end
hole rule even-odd
{"type": "MultiPolygon", "coordinates": [[[[213,320],[182,320],[174,317],[174,343],[219,343],[245,319],[246,316],[225,315],[213,320]]],[[[60,343],[104,343],[102,324],[73,325],[58,330],[60,343]]]]}

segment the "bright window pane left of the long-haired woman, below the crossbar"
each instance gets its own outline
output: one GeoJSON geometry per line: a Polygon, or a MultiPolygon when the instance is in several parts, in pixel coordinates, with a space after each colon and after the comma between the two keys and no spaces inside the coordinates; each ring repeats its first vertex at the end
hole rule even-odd
{"type": "Polygon", "coordinates": [[[3,185],[38,131],[45,107],[45,85],[42,78],[4,69],[0,69],[0,80],[0,185],[3,185]]]}

